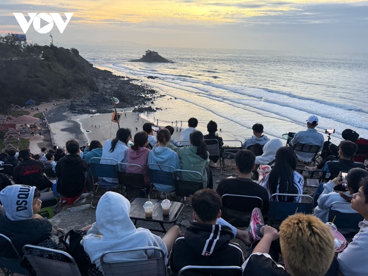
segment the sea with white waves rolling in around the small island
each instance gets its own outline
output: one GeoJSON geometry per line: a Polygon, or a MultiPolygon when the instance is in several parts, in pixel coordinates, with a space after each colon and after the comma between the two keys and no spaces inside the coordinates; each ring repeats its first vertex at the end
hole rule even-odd
{"type": "Polygon", "coordinates": [[[368,53],[150,47],[172,63],[135,63],[147,47],[74,47],[94,66],[166,95],[152,104],[162,110],[141,115],[159,125],[185,128],[196,117],[206,133],[214,120],[224,139],[243,141],[261,123],[265,135],[282,139],[315,115],[326,140],[326,129],[338,143],[346,128],[368,138],[368,53]]]}

